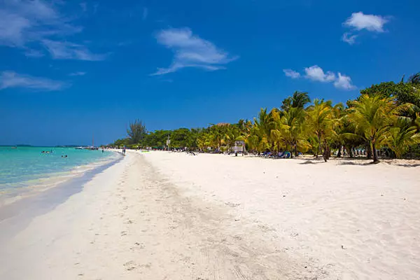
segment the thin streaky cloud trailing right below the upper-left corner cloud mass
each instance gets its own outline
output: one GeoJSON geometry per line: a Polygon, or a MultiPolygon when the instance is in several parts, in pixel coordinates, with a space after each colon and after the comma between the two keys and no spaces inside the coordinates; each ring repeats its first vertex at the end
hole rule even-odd
{"type": "Polygon", "coordinates": [[[106,55],[97,55],[90,52],[84,45],[51,40],[43,40],[42,43],[54,59],[97,61],[106,58],[106,55]]]}

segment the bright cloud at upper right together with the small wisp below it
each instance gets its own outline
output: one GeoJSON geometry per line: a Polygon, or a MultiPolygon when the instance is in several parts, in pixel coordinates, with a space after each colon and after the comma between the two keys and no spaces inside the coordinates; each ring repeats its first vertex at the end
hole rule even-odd
{"type": "MultiPolygon", "coordinates": [[[[388,18],[381,15],[365,15],[363,12],[352,13],[343,23],[344,27],[349,27],[351,32],[367,30],[371,32],[384,32],[384,25],[388,22],[388,18]]],[[[357,35],[346,32],[342,36],[342,41],[353,45],[357,35]]]]}

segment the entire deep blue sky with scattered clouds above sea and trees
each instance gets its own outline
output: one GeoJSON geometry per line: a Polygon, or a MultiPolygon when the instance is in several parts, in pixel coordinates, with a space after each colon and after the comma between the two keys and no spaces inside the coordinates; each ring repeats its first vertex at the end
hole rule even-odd
{"type": "Polygon", "coordinates": [[[0,144],[107,144],[420,71],[419,1],[0,1],[0,144]]]}

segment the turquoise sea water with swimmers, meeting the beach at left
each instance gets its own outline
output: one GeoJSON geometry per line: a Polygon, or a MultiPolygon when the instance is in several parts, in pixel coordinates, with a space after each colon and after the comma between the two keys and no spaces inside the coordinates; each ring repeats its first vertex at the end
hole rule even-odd
{"type": "Polygon", "coordinates": [[[59,179],[117,158],[116,153],[101,150],[0,146],[0,191],[34,186],[41,179],[59,179]]]}

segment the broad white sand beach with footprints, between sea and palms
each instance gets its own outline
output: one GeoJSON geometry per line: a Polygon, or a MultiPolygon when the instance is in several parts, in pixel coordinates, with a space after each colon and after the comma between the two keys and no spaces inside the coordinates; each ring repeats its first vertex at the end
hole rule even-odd
{"type": "Polygon", "coordinates": [[[127,151],[0,279],[420,279],[420,163],[366,162],[127,151]]]}

